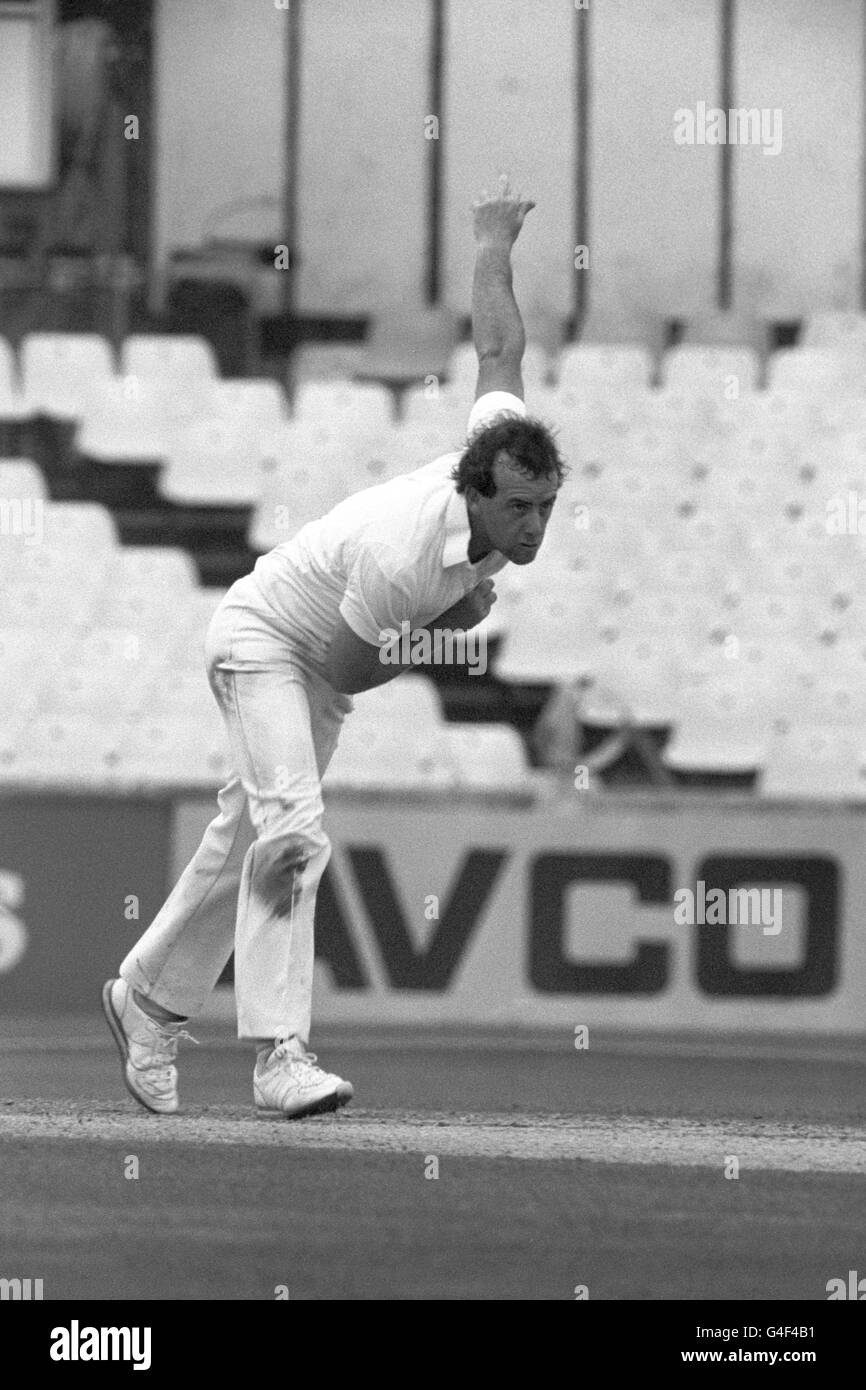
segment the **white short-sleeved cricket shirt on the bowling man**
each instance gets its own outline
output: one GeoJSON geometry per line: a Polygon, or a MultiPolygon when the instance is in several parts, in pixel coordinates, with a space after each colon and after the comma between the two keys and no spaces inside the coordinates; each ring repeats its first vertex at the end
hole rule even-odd
{"type": "MultiPolygon", "coordinates": [[[[480,396],[467,434],[503,411],[527,413],[509,392],[480,396]]],[[[460,452],[445,453],[356,492],[256,563],[252,578],[277,626],[316,664],[328,652],[338,613],[378,646],[385,628],[431,623],[507,564],[499,550],[468,562],[466,498],[450,478],[459,459],[460,452]]]]}

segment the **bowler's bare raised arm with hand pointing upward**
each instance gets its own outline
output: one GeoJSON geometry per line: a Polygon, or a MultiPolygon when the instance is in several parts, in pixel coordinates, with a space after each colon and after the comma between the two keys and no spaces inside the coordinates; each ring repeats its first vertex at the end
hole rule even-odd
{"type": "Polygon", "coordinates": [[[482,193],[473,204],[477,242],[473,275],[473,338],[478,353],[475,400],[488,391],[509,391],[523,400],[521,361],[525,348],[523,318],[512,289],[512,246],[535,203],[521,202],[499,179],[496,193],[482,193]]]}

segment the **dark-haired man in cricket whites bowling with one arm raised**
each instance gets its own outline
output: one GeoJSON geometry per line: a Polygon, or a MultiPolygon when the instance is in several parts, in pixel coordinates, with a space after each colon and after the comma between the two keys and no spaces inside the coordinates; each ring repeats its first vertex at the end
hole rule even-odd
{"type": "Polygon", "coordinates": [[[210,624],[209,678],[234,776],[192,862],[103,990],[124,1080],[150,1111],[177,1111],[183,1023],[232,948],[257,1108],[300,1116],[352,1098],[349,1081],[309,1052],[316,892],[331,852],[321,778],[352,695],[400,671],[382,660],[382,634],[403,621],[475,627],[495,602],[492,575],[509,560],[531,563],[542,542],[563,464],[523,403],[510,252],[531,207],[505,175],[474,204],[478,388],[466,450],[303,527],[232,585],[210,624]],[[245,806],[256,841],[242,856],[245,806]]]}

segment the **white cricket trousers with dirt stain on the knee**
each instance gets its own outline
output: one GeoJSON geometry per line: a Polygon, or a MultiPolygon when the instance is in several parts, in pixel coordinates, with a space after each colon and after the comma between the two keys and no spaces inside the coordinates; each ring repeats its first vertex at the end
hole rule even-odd
{"type": "Polygon", "coordinates": [[[220,815],[120,973],[192,1017],[234,948],[238,1037],[309,1044],[316,891],[331,855],[321,778],[353,701],[274,621],[246,575],[209,627],[207,673],[234,771],[220,815]],[[245,805],[257,837],[246,855],[245,805]]]}

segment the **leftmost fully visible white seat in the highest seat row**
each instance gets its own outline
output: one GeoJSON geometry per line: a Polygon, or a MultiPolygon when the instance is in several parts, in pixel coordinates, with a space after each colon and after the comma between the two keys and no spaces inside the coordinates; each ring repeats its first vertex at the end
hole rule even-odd
{"type": "Polygon", "coordinates": [[[19,359],[33,414],[79,420],[93,392],[115,379],[111,345],[97,334],[28,334],[19,359]]]}

